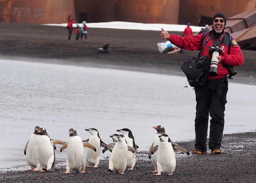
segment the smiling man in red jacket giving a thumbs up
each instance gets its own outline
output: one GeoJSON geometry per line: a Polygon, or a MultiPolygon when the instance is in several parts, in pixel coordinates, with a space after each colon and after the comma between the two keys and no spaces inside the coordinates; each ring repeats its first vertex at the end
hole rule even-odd
{"type": "MultiPolygon", "coordinates": [[[[209,33],[207,45],[203,44],[202,55],[208,58],[211,56],[209,49],[211,46],[218,46],[221,48],[218,58],[218,73],[217,76],[212,77],[208,75],[204,85],[194,88],[196,99],[196,116],[195,116],[195,149],[193,154],[205,154],[207,151],[206,138],[209,114],[210,133],[209,133],[209,149],[212,154],[221,154],[220,149],[222,142],[222,135],[224,129],[224,111],[227,103],[228,79],[229,71],[226,65],[238,66],[244,63],[244,57],[240,46],[232,37],[230,50],[226,43],[224,31],[226,26],[226,17],[222,13],[217,13],[212,19],[212,30],[209,33]],[[211,33],[211,34],[210,34],[211,33]]],[[[161,37],[169,40],[179,48],[186,50],[201,50],[202,38],[204,34],[198,34],[189,37],[181,37],[177,35],[170,35],[162,28],[161,37]]]]}

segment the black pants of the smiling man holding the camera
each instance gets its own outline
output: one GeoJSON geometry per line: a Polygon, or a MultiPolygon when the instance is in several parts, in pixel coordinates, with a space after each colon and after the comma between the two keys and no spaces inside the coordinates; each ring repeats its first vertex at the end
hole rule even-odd
{"type": "Polygon", "coordinates": [[[227,103],[227,77],[207,80],[203,86],[195,87],[196,116],[195,116],[195,148],[207,151],[206,138],[209,114],[210,135],[209,149],[221,147],[224,130],[224,111],[227,103]]]}

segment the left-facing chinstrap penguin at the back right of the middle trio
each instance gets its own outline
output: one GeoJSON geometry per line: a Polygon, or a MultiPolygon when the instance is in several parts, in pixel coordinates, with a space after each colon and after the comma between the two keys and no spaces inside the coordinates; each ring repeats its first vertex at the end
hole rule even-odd
{"type": "MultiPolygon", "coordinates": [[[[135,152],[137,153],[137,148],[139,147],[135,144],[132,131],[129,130],[128,128],[123,128],[121,130],[116,130],[116,131],[123,134],[128,146],[133,147],[135,149],[135,152]]],[[[132,153],[131,151],[128,152],[127,165],[126,165],[128,170],[133,170],[133,168],[135,167],[136,153],[132,153]]]]}

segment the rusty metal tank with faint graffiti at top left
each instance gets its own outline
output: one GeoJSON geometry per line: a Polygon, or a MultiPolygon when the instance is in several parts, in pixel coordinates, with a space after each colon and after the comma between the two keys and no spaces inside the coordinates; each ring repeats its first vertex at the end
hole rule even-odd
{"type": "Polygon", "coordinates": [[[0,22],[67,23],[75,20],[73,0],[1,0],[0,22]]]}

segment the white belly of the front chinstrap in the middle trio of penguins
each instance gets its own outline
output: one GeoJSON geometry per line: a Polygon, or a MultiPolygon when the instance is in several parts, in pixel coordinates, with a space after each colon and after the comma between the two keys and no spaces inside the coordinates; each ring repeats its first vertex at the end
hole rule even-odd
{"type": "Polygon", "coordinates": [[[117,171],[118,173],[123,172],[126,168],[127,154],[128,147],[126,143],[115,143],[109,159],[108,168],[112,171],[117,171]]]}

